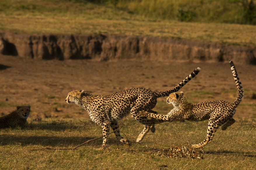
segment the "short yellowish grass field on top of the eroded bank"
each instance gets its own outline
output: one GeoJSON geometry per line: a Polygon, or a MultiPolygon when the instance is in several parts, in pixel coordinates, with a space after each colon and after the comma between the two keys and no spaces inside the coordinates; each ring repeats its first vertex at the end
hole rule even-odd
{"type": "MultiPolygon", "coordinates": [[[[256,47],[254,25],[203,23],[204,20],[180,22],[177,19],[156,18],[153,14],[145,16],[140,12],[130,12],[125,10],[125,7],[132,8],[124,4],[118,7],[118,4],[113,6],[87,1],[2,0],[0,30],[18,34],[122,34],[172,37],[256,47]]],[[[176,7],[174,10],[177,10],[176,7]]]]}

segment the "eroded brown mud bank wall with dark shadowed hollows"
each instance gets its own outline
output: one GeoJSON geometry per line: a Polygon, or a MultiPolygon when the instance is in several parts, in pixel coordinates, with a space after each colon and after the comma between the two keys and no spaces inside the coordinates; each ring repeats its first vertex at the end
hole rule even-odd
{"type": "Polygon", "coordinates": [[[256,65],[256,49],[192,40],[122,35],[0,33],[0,53],[34,59],[235,60],[256,65]]]}

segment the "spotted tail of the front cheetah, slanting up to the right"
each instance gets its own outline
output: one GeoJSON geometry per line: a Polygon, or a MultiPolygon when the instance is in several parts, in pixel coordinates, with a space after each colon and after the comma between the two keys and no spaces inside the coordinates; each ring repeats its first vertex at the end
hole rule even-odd
{"type": "Polygon", "coordinates": [[[167,90],[164,92],[155,92],[156,97],[157,98],[166,97],[166,96],[169,96],[171,93],[179,91],[181,89],[181,87],[183,87],[185,84],[187,84],[187,82],[189,82],[192,78],[194,78],[200,71],[201,71],[201,69],[199,67],[197,67],[196,69],[194,69],[194,71],[189,76],[187,76],[182,82],[180,82],[173,89],[167,90]]]}

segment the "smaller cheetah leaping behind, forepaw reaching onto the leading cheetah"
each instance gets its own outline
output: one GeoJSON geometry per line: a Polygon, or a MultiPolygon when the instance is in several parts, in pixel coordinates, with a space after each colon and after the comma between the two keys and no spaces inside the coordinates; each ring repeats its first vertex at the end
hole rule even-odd
{"type": "Polygon", "coordinates": [[[171,110],[167,115],[159,115],[142,111],[139,113],[140,116],[169,122],[179,119],[189,121],[203,121],[209,119],[206,138],[203,142],[192,145],[192,148],[201,148],[202,146],[205,146],[213,140],[214,133],[220,126],[222,126],[222,130],[226,130],[228,126],[235,123],[233,116],[236,112],[236,107],[243,99],[243,87],[238,78],[236,68],[231,60],[229,63],[238,91],[237,98],[233,103],[223,100],[189,103],[186,97],[183,96],[183,92],[175,92],[171,93],[166,99],[167,103],[172,103],[174,106],[173,110],[171,110]]]}

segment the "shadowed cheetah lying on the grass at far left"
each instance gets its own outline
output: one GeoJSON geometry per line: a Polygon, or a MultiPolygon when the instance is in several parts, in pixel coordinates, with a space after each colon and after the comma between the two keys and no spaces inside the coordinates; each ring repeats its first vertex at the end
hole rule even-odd
{"type": "Polygon", "coordinates": [[[17,110],[0,117],[0,128],[24,127],[30,113],[30,106],[17,106],[17,110]]]}

